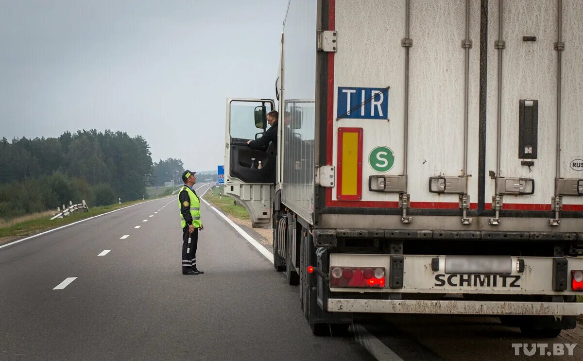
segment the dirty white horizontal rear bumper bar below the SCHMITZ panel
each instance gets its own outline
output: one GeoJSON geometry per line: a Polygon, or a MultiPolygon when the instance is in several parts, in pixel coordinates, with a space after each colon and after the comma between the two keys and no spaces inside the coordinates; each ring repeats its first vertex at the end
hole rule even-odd
{"type": "Polygon", "coordinates": [[[328,299],[329,312],[579,316],[583,303],[328,299]]]}

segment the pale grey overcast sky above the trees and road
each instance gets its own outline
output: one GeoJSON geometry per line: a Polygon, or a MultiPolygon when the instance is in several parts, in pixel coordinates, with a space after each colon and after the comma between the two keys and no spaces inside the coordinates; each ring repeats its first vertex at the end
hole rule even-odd
{"type": "Polygon", "coordinates": [[[0,0],[0,138],[141,135],[224,163],[227,97],[275,97],[287,0],[0,0]]]}

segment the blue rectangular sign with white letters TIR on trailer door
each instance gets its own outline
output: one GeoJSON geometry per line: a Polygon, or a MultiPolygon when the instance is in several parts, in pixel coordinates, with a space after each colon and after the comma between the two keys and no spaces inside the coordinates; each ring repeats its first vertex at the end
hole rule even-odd
{"type": "Polygon", "coordinates": [[[338,119],[388,119],[388,87],[338,87],[338,119]]]}

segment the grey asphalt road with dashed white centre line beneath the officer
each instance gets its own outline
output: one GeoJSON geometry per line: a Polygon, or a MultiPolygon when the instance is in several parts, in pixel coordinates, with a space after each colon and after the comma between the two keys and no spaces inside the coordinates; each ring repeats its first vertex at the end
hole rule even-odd
{"type": "Polygon", "coordinates": [[[373,359],[352,337],[312,336],[297,288],[204,204],[205,274],[182,275],[175,198],[2,248],[0,359],[373,359]]]}

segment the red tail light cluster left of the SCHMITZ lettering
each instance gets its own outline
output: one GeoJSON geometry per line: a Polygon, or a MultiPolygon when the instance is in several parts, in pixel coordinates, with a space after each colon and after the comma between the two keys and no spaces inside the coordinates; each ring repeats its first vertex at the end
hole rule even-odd
{"type": "Polygon", "coordinates": [[[330,286],[342,288],[384,288],[383,267],[331,267],[330,286]]]}

